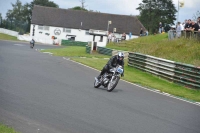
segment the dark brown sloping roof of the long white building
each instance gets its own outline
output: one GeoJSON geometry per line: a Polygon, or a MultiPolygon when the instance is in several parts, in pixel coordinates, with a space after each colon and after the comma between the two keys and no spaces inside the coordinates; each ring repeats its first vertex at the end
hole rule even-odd
{"type": "Polygon", "coordinates": [[[32,11],[32,24],[65,27],[74,29],[95,29],[107,31],[117,29],[117,33],[129,33],[139,35],[140,28],[144,26],[135,16],[106,14],[98,12],[80,11],[72,9],[60,9],[35,5],[32,11]],[[82,23],[82,26],[81,26],[82,23]]]}

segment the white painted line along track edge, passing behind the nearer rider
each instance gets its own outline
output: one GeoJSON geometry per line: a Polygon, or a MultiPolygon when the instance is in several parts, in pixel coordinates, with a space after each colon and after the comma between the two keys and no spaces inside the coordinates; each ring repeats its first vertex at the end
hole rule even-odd
{"type": "MultiPolygon", "coordinates": [[[[63,58],[66,59],[65,57],[63,57],[63,58]]],[[[86,66],[86,65],[84,65],[84,64],[82,64],[82,63],[79,63],[79,62],[76,62],[76,61],[73,61],[73,60],[70,60],[70,59],[66,59],[66,60],[69,60],[69,61],[74,62],[74,63],[76,63],[76,64],[79,64],[79,65],[82,65],[82,66],[85,66],[85,67],[87,67],[87,68],[91,68],[91,69],[93,69],[93,70],[96,70],[96,71],[100,72],[99,70],[97,70],[97,69],[95,69],[95,68],[92,68],[92,67],[89,67],[89,66],[86,66]]],[[[124,82],[126,82],[126,83],[132,84],[132,85],[134,85],[134,86],[140,87],[140,88],[142,88],[142,89],[145,89],[145,90],[148,90],[148,91],[151,91],[151,92],[155,92],[155,93],[157,93],[157,94],[161,94],[161,95],[164,95],[164,96],[167,96],[167,97],[171,97],[171,98],[174,98],[174,99],[178,99],[178,100],[180,100],[180,101],[184,101],[184,102],[187,102],[187,103],[191,103],[191,104],[200,106],[200,102],[190,102],[190,101],[188,101],[188,100],[184,100],[184,99],[175,97],[175,96],[170,95],[170,94],[168,94],[168,93],[162,93],[162,92],[160,92],[159,90],[152,90],[152,89],[148,89],[148,88],[139,86],[139,85],[137,85],[137,84],[128,82],[128,81],[123,80],[123,79],[121,79],[121,81],[124,81],[124,82]]]]}

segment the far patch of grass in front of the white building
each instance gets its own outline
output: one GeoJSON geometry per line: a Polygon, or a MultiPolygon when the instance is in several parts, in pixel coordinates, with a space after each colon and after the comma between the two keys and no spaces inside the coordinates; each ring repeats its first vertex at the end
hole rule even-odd
{"type": "Polygon", "coordinates": [[[42,52],[51,52],[55,56],[109,58],[109,56],[98,54],[97,52],[94,52],[93,54],[87,54],[86,48],[79,46],[68,46],[60,49],[45,49],[42,50],[42,52]]]}

